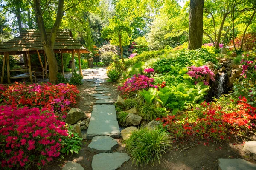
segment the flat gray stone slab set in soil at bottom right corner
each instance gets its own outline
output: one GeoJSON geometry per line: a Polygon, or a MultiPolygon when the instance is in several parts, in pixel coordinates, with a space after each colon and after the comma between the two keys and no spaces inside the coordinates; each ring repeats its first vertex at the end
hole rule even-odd
{"type": "Polygon", "coordinates": [[[256,170],[256,164],[245,161],[244,159],[218,159],[219,170],[256,170]]]}

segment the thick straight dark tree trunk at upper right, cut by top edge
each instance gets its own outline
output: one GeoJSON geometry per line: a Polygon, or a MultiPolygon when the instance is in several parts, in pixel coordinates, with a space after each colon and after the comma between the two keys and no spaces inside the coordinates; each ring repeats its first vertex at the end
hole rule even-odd
{"type": "Polygon", "coordinates": [[[190,0],[189,50],[202,48],[204,0],[190,0]]]}

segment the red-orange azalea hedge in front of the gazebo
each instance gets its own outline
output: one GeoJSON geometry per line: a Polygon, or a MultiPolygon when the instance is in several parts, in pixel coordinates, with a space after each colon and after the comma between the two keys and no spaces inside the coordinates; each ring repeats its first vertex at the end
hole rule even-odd
{"type": "Polygon", "coordinates": [[[77,94],[79,91],[75,85],[51,83],[25,85],[16,82],[11,86],[0,86],[0,105],[47,108],[66,115],[76,105],[77,94]]]}

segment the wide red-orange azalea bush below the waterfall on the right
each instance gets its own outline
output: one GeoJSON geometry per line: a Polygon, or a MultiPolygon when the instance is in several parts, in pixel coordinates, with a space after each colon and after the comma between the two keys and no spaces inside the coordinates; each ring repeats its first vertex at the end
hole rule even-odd
{"type": "MultiPolygon", "coordinates": [[[[160,120],[160,119],[158,119],[160,120]]],[[[175,139],[207,139],[221,141],[230,135],[255,130],[256,108],[246,99],[234,101],[221,97],[216,102],[202,103],[192,111],[161,119],[175,139]]]]}

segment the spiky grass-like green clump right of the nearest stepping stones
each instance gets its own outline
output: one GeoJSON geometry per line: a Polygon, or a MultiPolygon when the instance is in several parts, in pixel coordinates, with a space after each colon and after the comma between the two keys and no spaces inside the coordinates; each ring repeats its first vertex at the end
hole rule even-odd
{"type": "Polygon", "coordinates": [[[156,160],[160,164],[162,154],[172,146],[169,133],[160,127],[134,131],[125,144],[126,151],[136,166],[154,164],[156,160]]]}

